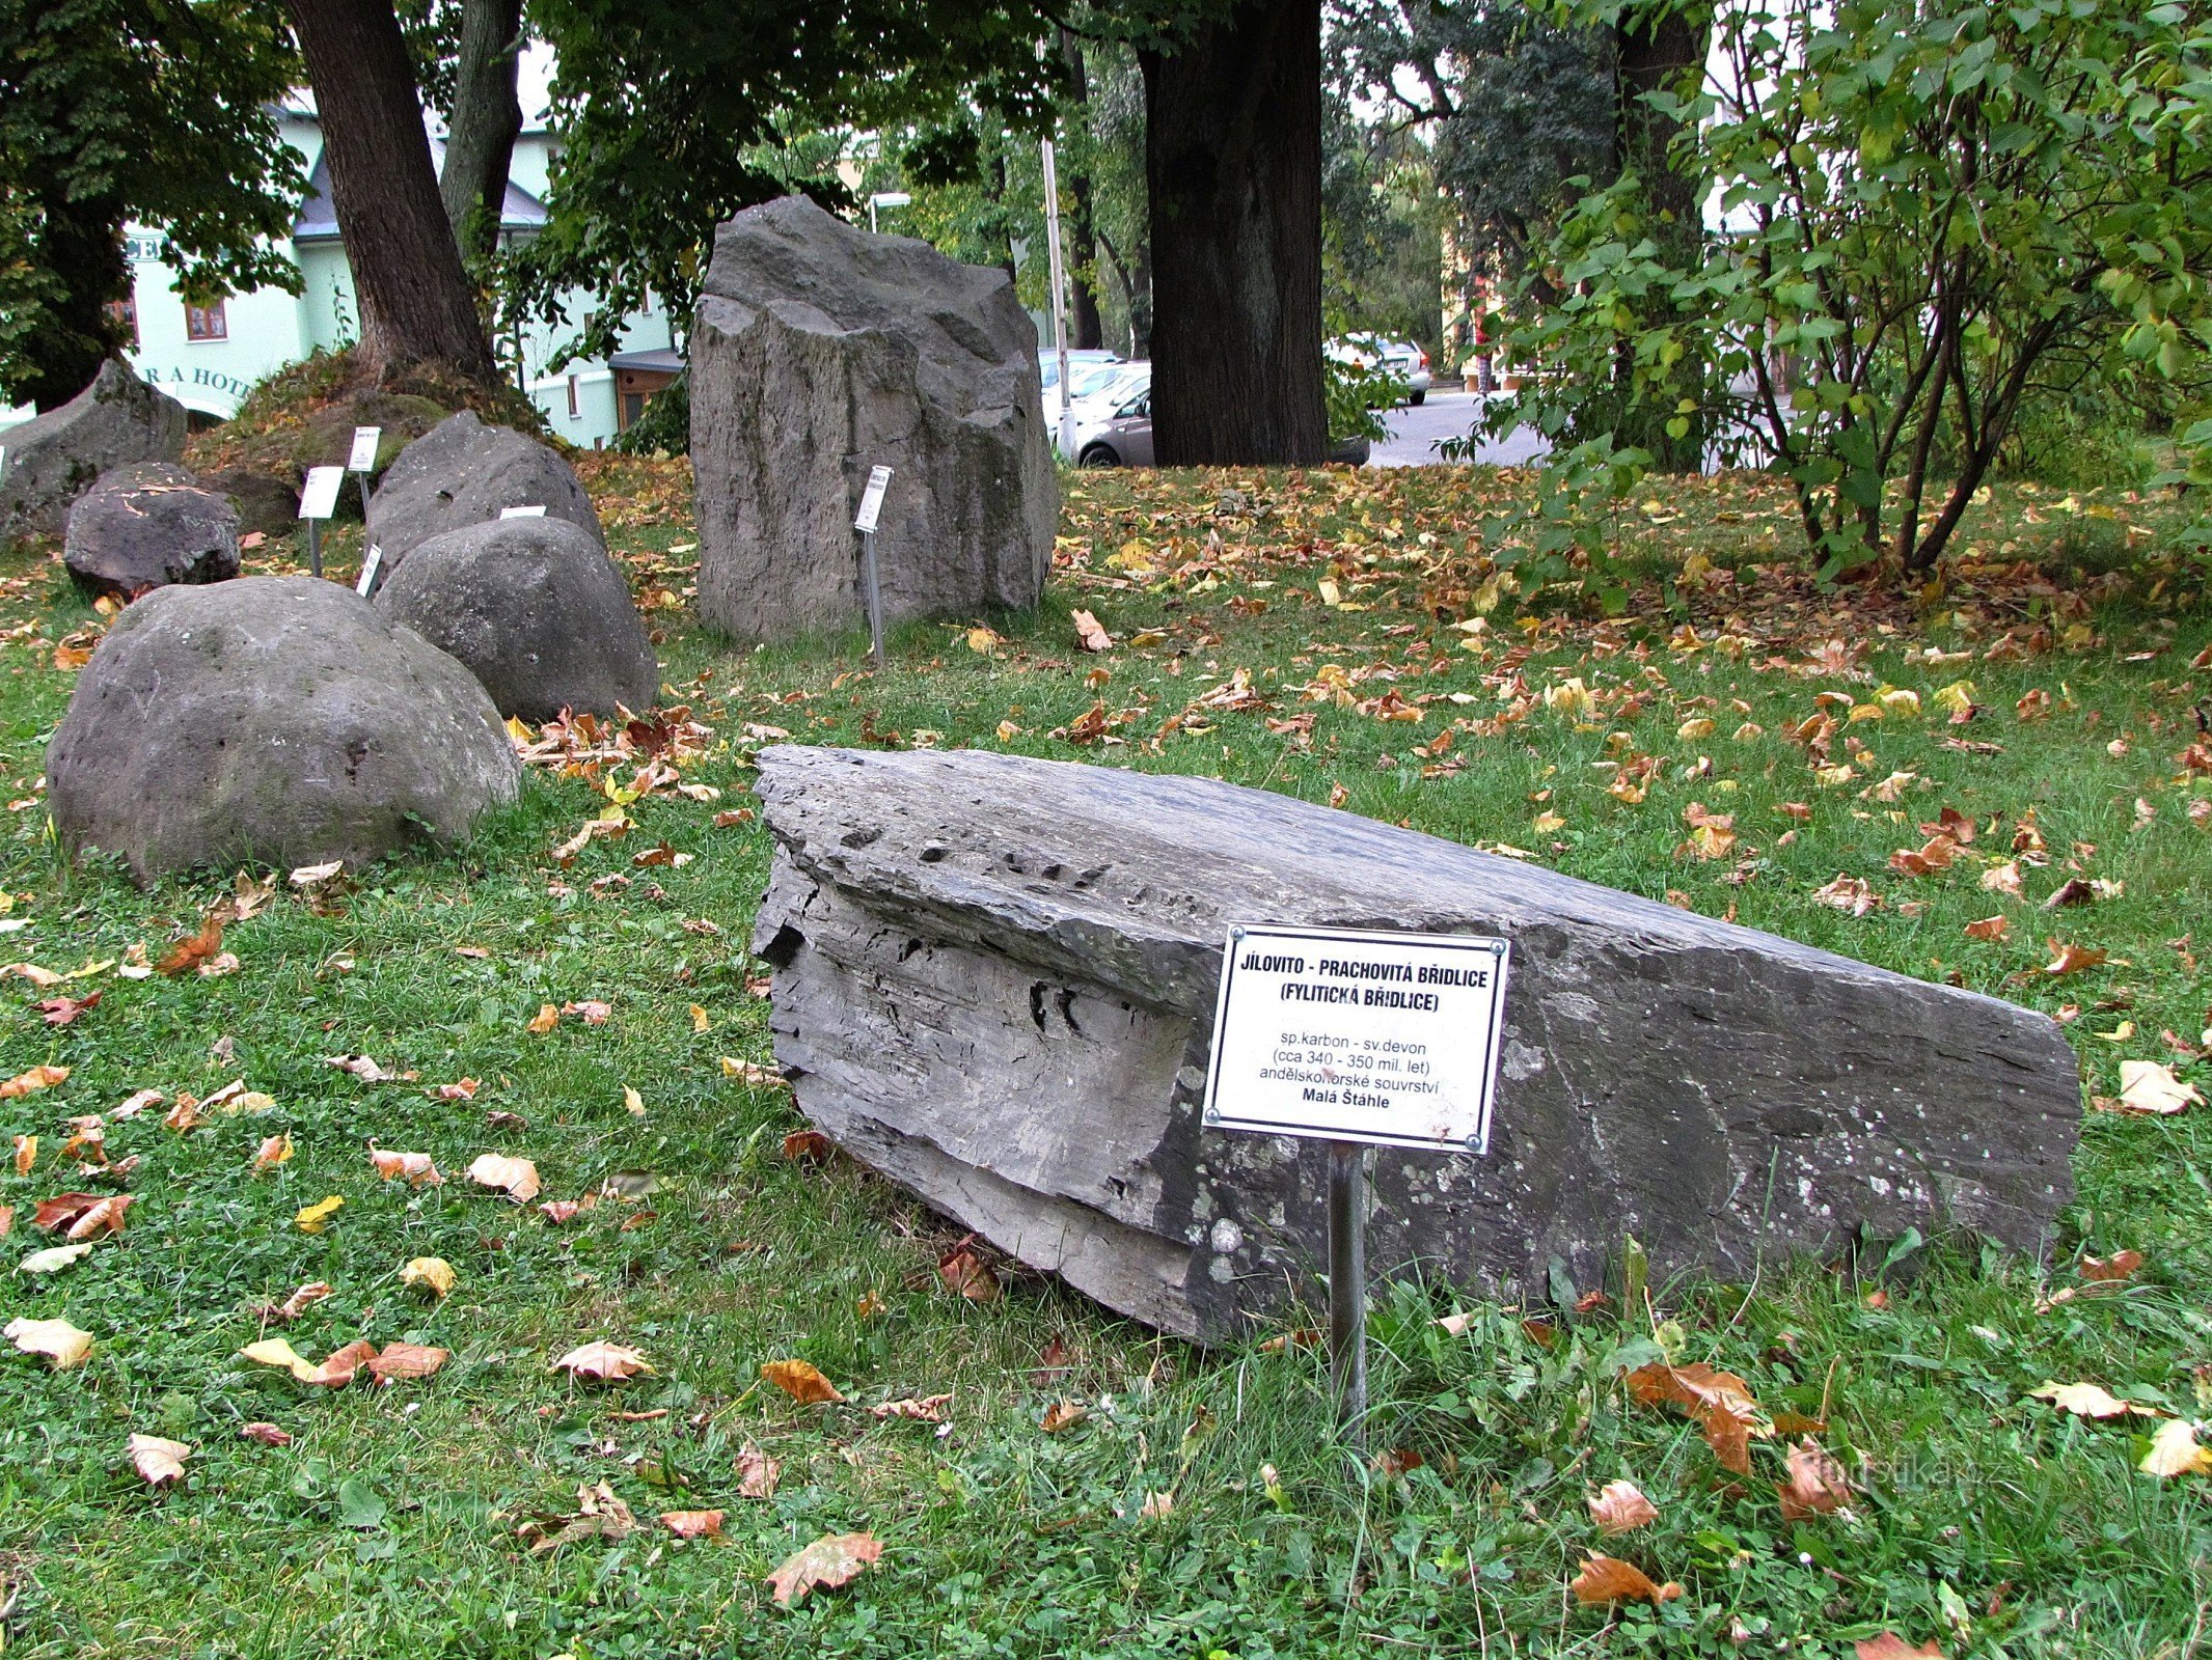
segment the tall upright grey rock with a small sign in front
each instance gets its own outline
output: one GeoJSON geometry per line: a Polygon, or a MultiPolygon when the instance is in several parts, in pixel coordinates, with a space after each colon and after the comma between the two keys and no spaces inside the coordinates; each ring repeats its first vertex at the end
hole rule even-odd
{"type": "Polygon", "coordinates": [[[714,232],[690,343],[699,612],[741,641],[867,621],[852,519],[891,469],[891,623],[1037,603],[1060,486],[1037,327],[1004,272],[805,197],[714,232]]]}

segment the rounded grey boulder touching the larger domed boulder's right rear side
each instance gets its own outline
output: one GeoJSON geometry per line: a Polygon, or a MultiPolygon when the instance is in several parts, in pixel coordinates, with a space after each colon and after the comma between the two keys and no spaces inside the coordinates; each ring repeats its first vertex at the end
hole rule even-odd
{"type": "Polygon", "coordinates": [[[588,533],[562,519],[493,519],[407,555],[376,610],[458,656],[500,714],[650,710],[653,641],[588,533]]]}

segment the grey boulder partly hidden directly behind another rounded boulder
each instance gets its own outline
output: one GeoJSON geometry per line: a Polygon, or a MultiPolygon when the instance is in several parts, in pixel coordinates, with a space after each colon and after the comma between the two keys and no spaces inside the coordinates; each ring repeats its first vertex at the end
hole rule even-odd
{"type": "Polygon", "coordinates": [[[431,537],[498,519],[509,506],[542,506],[549,519],[606,542],[568,462],[535,438],[487,427],[462,409],[403,449],[378,480],[369,493],[369,542],[385,550],[385,570],[394,570],[431,537]]]}

